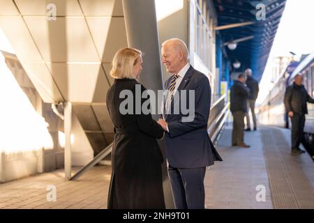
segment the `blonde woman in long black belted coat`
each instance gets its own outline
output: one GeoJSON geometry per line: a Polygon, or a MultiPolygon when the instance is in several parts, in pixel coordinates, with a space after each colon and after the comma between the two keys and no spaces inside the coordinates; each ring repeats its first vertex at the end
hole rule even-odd
{"type": "Polygon", "coordinates": [[[141,97],[135,94],[135,88],[146,90],[136,80],[142,63],[142,52],[133,48],[120,49],[112,61],[110,75],[114,84],[107,92],[107,108],[115,135],[107,208],[165,208],[163,156],[156,140],[163,137],[163,128],[151,114],[135,114],[135,97],[141,97]],[[132,92],[134,102],[127,114],[120,106],[126,100],[120,97],[124,90],[132,92]]]}

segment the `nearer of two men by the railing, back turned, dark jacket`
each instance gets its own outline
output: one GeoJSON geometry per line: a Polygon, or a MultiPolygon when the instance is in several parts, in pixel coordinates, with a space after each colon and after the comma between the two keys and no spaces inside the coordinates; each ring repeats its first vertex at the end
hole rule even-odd
{"type": "Polygon", "coordinates": [[[244,143],[244,116],[247,112],[246,100],[250,89],[246,86],[246,76],[241,73],[230,89],[230,110],[233,116],[232,146],[250,147],[244,143]]]}

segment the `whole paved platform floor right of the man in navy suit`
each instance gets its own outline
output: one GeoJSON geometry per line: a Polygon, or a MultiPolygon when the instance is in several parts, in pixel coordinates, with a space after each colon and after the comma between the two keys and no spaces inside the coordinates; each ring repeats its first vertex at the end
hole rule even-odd
{"type": "Polygon", "coordinates": [[[205,176],[207,208],[314,208],[314,162],[291,155],[290,130],[261,127],[246,132],[250,148],[231,147],[231,124],[218,141],[223,162],[205,176]],[[262,185],[265,201],[257,201],[262,185]]]}

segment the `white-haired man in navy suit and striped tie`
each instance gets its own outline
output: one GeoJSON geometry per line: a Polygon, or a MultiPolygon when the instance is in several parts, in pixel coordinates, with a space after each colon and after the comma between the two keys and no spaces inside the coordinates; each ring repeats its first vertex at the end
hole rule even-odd
{"type": "Polygon", "coordinates": [[[211,105],[209,79],[190,66],[188,49],[182,40],[165,41],[161,54],[167,72],[172,74],[165,82],[165,89],[168,90],[163,101],[165,119],[160,118],[158,123],[166,132],[165,151],[174,205],[180,209],[201,209],[204,208],[206,167],[214,161],[222,161],[207,133],[211,105]],[[188,93],[186,98],[181,97],[184,90],[188,93]],[[189,94],[192,91],[195,95],[189,94]],[[195,102],[194,105],[190,99],[195,102]],[[178,108],[182,103],[188,104],[189,109],[193,107],[194,117],[190,120],[187,116],[191,114],[184,114],[178,108]]]}

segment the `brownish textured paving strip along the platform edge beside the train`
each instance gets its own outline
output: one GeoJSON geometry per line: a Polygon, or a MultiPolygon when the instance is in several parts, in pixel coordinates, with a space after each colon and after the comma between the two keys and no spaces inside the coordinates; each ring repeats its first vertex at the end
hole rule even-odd
{"type": "MultiPolygon", "coordinates": [[[[281,130],[261,129],[274,208],[314,208],[314,190],[281,130]]],[[[313,170],[314,171],[314,170],[313,170]]]]}

